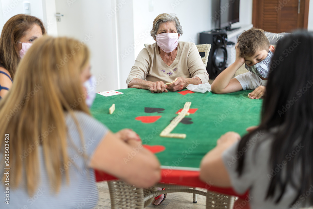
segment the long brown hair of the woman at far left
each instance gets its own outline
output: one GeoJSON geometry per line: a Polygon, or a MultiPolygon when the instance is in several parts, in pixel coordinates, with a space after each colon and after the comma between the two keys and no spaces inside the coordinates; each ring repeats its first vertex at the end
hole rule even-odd
{"type": "Polygon", "coordinates": [[[43,22],[34,16],[17,14],[11,17],[4,25],[0,37],[0,61],[14,79],[14,74],[21,58],[18,50],[18,41],[37,24],[42,34],[46,34],[43,22]]]}

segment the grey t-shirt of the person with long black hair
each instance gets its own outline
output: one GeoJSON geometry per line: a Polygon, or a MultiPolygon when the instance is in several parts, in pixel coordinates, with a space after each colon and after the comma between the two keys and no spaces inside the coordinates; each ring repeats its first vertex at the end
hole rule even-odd
{"type": "MultiPolygon", "coordinates": [[[[238,151],[238,142],[223,152],[223,162],[228,171],[233,189],[238,194],[244,194],[247,190],[249,190],[249,195],[247,195],[246,201],[249,201],[249,204],[253,209],[300,209],[305,205],[307,198],[301,198],[300,196],[296,204],[291,205],[291,202],[295,199],[297,193],[290,184],[286,186],[286,191],[278,204],[275,204],[275,200],[278,197],[279,189],[276,189],[274,199],[265,200],[270,180],[278,172],[283,172],[284,174],[286,167],[285,164],[291,160],[291,157],[286,155],[285,162],[282,161],[277,165],[277,167],[275,167],[274,170],[272,170],[269,165],[270,149],[272,144],[271,139],[272,134],[261,131],[254,137],[250,138],[250,140],[246,143],[247,149],[238,151]],[[256,145],[259,142],[262,143],[256,149],[256,145]],[[238,159],[242,156],[243,152],[245,152],[244,170],[242,175],[239,176],[236,169],[238,166],[238,159]]],[[[302,148],[303,146],[298,144],[295,147],[295,150],[302,148]]],[[[299,172],[300,169],[297,169],[294,172],[294,176],[299,176],[299,172]]]]}

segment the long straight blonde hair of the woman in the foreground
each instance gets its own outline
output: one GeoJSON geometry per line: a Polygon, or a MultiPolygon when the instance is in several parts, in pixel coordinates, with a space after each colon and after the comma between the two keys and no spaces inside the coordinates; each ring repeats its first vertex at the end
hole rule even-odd
{"type": "MultiPolygon", "coordinates": [[[[9,134],[10,138],[10,186],[18,187],[25,169],[29,196],[37,189],[40,177],[38,146],[44,153],[51,188],[58,192],[64,177],[60,169],[68,160],[64,113],[71,114],[74,120],[73,110],[90,114],[80,80],[90,55],[85,45],[75,48],[77,44],[78,40],[65,37],[44,36],[36,40],[18,65],[11,90],[0,101],[0,135],[9,134]],[[77,102],[78,98],[82,102],[77,102]],[[40,138],[51,126],[55,126],[53,131],[40,138]],[[25,151],[27,157],[23,155],[25,151]]],[[[1,137],[2,151],[5,143],[1,137]]],[[[64,173],[69,182],[68,171],[64,173]]]]}

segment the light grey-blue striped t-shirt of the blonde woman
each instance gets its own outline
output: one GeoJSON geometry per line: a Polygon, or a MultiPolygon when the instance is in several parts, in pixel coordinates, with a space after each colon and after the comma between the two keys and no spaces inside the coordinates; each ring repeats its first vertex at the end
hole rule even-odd
{"type": "MultiPolygon", "coordinates": [[[[45,208],[69,208],[69,209],[85,209],[94,208],[98,201],[98,191],[95,183],[94,170],[88,167],[90,157],[94,153],[101,139],[106,135],[108,129],[83,112],[74,112],[75,117],[80,125],[84,136],[84,144],[81,143],[80,135],[73,118],[66,114],[65,120],[68,128],[68,156],[69,161],[66,165],[59,169],[64,174],[64,170],[69,172],[69,184],[66,183],[65,175],[61,183],[59,193],[55,194],[50,190],[50,182],[45,170],[43,149],[39,145],[40,156],[40,182],[33,196],[29,197],[27,187],[25,185],[26,175],[23,175],[23,181],[18,189],[10,188],[9,205],[4,203],[4,182],[0,183],[1,202],[0,208],[12,209],[45,209],[45,208]],[[74,147],[72,142],[74,142],[74,147]],[[84,151],[85,148],[85,151],[84,151]],[[83,153],[87,155],[87,161],[83,157],[83,153]]],[[[51,127],[55,127],[54,124],[51,127]]],[[[52,130],[52,128],[50,130],[52,130]]],[[[53,130],[52,130],[53,131],[53,130]]],[[[13,140],[13,139],[11,139],[13,140]]],[[[44,139],[43,139],[44,140],[44,139]]],[[[3,170],[3,168],[2,168],[3,170]]]]}

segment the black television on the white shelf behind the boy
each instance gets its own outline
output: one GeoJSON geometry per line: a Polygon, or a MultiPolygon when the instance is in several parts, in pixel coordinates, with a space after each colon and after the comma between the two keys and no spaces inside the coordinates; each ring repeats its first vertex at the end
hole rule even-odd
{"type": "Polygon", "coordinates": [[[239,0],[220,0],[220,13],[221,29],[239,22],[239,0]]]}

